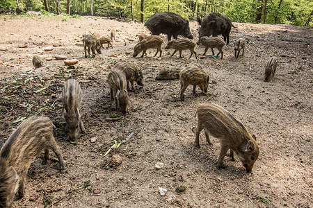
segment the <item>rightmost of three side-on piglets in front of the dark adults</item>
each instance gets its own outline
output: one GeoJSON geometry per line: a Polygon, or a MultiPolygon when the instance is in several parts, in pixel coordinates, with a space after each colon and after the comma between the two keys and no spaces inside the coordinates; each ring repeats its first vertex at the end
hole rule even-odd
{"type": "Polygon", "coordinates": [[[199,42],[199,45],[203,45],[205,46],[205,50],[203,55],[205,55],[205,53],[207,53],[207,49],[211,48],[212,54],[214,55],[214,48],[218,49],[218,54],[220,55],[220,59],[223,59],[224,56],[224,52],[223,52],[223,47],[225,46],[225,42],[223,41],[222,38],[220,37],[201,37],[199,42]]]}

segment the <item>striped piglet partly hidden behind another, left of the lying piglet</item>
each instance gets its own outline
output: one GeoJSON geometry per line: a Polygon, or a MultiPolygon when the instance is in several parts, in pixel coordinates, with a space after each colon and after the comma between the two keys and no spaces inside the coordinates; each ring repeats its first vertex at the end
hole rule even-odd
{"type": "Polygon", "coordinates": [[[131,87],[133,88],[134,92],[138,92],[135,88],[134,82],[136,82],[137,85],[143,86],[143,72],[141,69],[137,69],[134,64],[118,62],[114,65],[112,70],[118,71],[120,74],[125,76],[127,81],[127,89],[129,89],[129,82],[131,83],[131,87]]]}

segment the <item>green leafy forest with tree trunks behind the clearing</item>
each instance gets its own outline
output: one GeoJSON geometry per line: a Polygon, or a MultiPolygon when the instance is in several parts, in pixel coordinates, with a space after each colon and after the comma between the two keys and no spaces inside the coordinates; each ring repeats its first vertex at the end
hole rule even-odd
{"type": "Polygon", "coordinates": [[[189,20],[220,12],[236,22],[313,26],[312,0],[1,0],[0,8],[141,22],[155,12],[175,12],[189,20]]]}

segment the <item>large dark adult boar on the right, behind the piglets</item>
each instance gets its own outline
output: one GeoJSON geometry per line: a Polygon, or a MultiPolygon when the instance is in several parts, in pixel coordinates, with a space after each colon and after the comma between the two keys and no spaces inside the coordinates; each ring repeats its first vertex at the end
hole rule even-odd
{"type": "MultiPolygon", "coordinates": [[[[210,35],[223,35],[224,41],[230,43],[230,29],[232,28],[232,21],[226,15],[218,12],[211,12],[201,19],[197,18],[201,25],[199,31],[199,39],[203,36],[210,37],[210,35]]],[[[234,27],[234,26],[233,26],[234,27]]]]}

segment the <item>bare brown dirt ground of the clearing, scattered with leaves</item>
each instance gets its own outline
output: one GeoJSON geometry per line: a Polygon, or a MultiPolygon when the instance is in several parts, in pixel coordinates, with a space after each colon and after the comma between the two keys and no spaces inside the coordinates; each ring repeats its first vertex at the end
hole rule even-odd
{"type": "MultiPolygon", "coordinates": [[[[61,174],[55,155],[42,165],[43,154],[33,160],[26,177],[26,194],[13,207],[312,207],[312,80],[313,30],[289,25],[234,23],[224,58],[172,57],[173,49],[154,58],[131,56],[143,24],[99,17],[47,17],[0,15],[0,139],[6,141],[24,117],[45,114],[56,125],[55,137],[67,173],[61,174]],[[67,20],[67,21],[65,21],[67,20]],[[113,49],[84,58],[85,31],[105,35],[116,28],[113,49]],[[285,31],[287,30],[287,31],[285,31]],[[245,37],[243,56],[234,58],[232,42],[245,37]],[[125,45],[126,44],[126,45],[125,45]],[[54,46],[53,51],[44,51],[54,46]],[[33,55],[45,58],[45,67],[33,69],[33,55]],[[67,55],[79,63],[67,69],[54,55],[67,55]],[[279,59],[275,78],[264,82],[266,61],[279,59]],[[51,59],[50,61],[48,61],[51,59]],[[144,86],[129,90],[129,113],[123,115],[110,101],[106,78],[120,61],[143,71],[144,86]],[[202,67],[210,74],[207,96],[192,93],[179,101],[179,80],[154,78],[161,69],[202,67]],[[61,96],[68,78],[81,82],[86,134],[78,144],[67,141],[61,96]],[[38,91],[38,92],[36,92],[38,91]],[[236,159],[225,157],[225,168],[215,166],[220,145],[195,148],[197,124],[193,116],[200,103],[217,103],[229,110],[257,136],[260,155],[252,173],[236,159]],[[122,116],[118,121],[106,121],[122,116]],[[134,134],[132,134],[134,132],[134,134]],[[118,148],[115,141],[130,139],[118,148]],[[120,166],[109,166],[120,155],[120,166]],[[157,170],[155,165],[164,166],[157,170]],[[177,193],[177,187],[186,191],[177,193]],[[159,188],[166,189],[161,196],[159,188]]],[[[191,31],[198,41],[198,24],[191,31]]],[[[204,48],[196,49],[202,55],[204,48]]],[[[217,50],[216,50],[217,51],[217,50]]]]}

